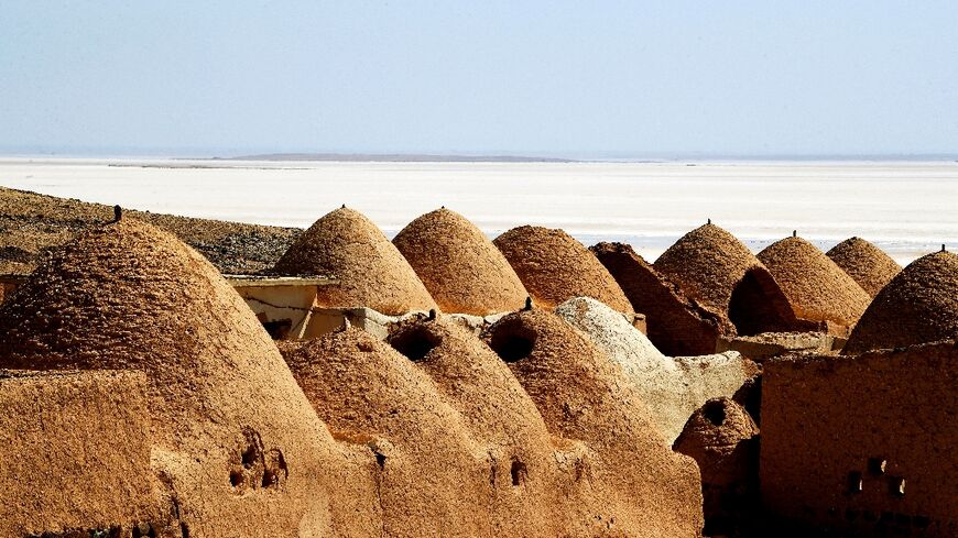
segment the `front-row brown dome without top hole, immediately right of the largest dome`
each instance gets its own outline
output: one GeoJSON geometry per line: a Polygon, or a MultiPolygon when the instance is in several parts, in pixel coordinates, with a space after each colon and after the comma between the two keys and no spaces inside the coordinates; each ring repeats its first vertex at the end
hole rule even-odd
{"type": "Polygon", "coordinates": [[[283,350],[335,435],[375,454],[385,536],[492,534],[487,454],[413,361],[356,329],[283,350]]]}

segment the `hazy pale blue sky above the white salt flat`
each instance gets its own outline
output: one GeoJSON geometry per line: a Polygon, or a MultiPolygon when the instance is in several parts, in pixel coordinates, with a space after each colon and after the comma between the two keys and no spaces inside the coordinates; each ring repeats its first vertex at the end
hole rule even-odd
{"type": "Polygon", "coordinates": [[[0,152],[958,153],[958,2],[0,0],[0,152]]]}

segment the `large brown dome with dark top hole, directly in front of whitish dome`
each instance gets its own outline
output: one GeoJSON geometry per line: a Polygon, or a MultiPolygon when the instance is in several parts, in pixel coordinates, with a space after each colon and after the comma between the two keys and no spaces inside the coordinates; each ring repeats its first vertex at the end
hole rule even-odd
{"type": "Polygon", "coordinates": [[[598,455],[584,469],[611,486],[610,526],[629,536],[697,536],[701,491],[692,460],[672,452],[621,367],[552,312],[511,314],[483,338],[532,397],[553,436],[598,455]]]}

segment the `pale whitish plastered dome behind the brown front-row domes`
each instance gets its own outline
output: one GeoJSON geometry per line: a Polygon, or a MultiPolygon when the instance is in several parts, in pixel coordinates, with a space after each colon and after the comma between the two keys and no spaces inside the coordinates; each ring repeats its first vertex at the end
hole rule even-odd
{"type": "Polygon", "coordinates": [[[755,370],[736,352],[665,356],[620,314],[596,299],[569,299],[555,311],[622,369],[668,444],[693,411],[709,398],[731,396],[755,370]]]}

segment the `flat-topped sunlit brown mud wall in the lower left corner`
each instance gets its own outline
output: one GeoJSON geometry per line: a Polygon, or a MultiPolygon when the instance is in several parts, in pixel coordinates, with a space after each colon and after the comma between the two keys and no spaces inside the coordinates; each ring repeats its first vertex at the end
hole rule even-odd
{"type": "Polygon", "coordinates": [[[0,371],[0,536],[164,530],[145,385],[133,372],[0,371]]]}

